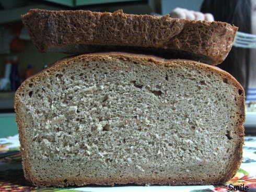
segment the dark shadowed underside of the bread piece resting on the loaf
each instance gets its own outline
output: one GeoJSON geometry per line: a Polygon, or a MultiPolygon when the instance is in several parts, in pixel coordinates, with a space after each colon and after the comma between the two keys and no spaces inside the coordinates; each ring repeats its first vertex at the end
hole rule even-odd
{"type": "Polygon", "coordinates": [[[51,47],[49,52],[64,52],[67,54],[83,54],[83,53],[100,53],[100,52],[129,52],[144,55],[156,55],[166,59],[189,59],[196,62],[207,63],[215,65],[214,61],[205,55],[195,54],[188,51],[176,50],[176,49],[162,49],[156,47],[139,47],[139,46],[108,46],[108,45],[85,45],[75,44],[62,47],[51,47]]]}

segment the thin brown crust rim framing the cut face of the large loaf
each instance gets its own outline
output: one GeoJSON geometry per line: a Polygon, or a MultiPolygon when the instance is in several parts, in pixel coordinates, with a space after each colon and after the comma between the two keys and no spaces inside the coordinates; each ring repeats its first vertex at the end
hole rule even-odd
{"type": "Polygon", "coordinates": [[[85,55],[79,55],[76,57],[71,57],[71,58],[65,58],[62,59],[61,61],[56,62],[54,65],[51,67],[48,67],[41,71],[40,73],[30,77],[29,79],[25,80],[19,89],[15,93],[15,112],[17,114],[16,116],[16,121],[19,127],[19,140],[20,140],[20,145],[21,145],[21,154],[22,154],[22,165],[24,167],[24,172],[25,172],[25,177],[33,183],[34,185],[37,186],[58,186],[58,187],[64,187],[64,186],[70,186],[70,185],[77,185],[77,186],[82,186],[82,185],[88,185],[88,184],[97,184],[97,185],[114,185],[114,184],[127,184],[127,183],[134,183],[134,184],[142,184],[145,185],[147,183],[150,184],[160,184],[160,185],[189,185],[189,184],[201,184],[201,185],[208,185],[208,184],[223,184],[226,181],[228,181],[231,177],[233,177],[242,160],[242,146],[244,142],[244,128],[243,128],[243,123],[245,122],[245,93],[242,88],[242,86],[239,84],[239,82],[232,77],[230,74],[228,74],[226,71],[219,69],[218,67],[211,66],[211,65],[206,65],[194,61],[189,61],[189,60],[181,60],[181,59],[164,59],[164,58],[159,58],[156,56],[148,56],[148,55],[139,55],[139,54],[131,54],[131,53],[123,53],[123,52],[108,52],[108,53],[94,53],[94,54],[85,54],[85,55]],[[218,179],[213,179],[213,180],[208,180],[208,181],[201,181],[201,178],[194,178],[194,179],[188,179],[187,181],[180,180],[179,178],[143,178],[143,179],[138,179],[138,178],[68,178],[67,183],[64,183],[63,181],[51,181],[48,183],[42,183],[41,181],[38,181],[36,177],[33,176],[33,172],[30,169],[29,165],[29,155],[28,155],[28,148],[26,143],[26,134],[25,134],[25,124],[22,120],[22,106],[20,103],[20,94],[22,94],[22,90],[25,89],[29,83],[35,82],[40,80],[41,78],[45,78],[46,76],[49,76],[51,71],[60,69],[62,65],[67,64],[68,62],[74,61],[74,59],[79,60],[79,59],[90,59],[90,58],[107,58],[107,57],[114,57],[114,58],[125,58],[125,59],[130,59],[130,60],[136,60],[136,61],[148,61],[148,62],[153,62],[159,65],[165,65],[171,62],[176,62],[180,63],[181,65],[189,65],[191,68],[195,69],[201,69],[204,71],[212,71],[215,74],[220,75],[223,78],[228,79],[228,83],[233,85],[234,89],[236,90],[236,98],[237,98],[237,103],[240,109],[239,116],[240,120],[237,122],[237,125],[235,126],[235,133],[237,134],[237,140],[236,140],[236,150],[235,153],[232,154],[233,156],[231,159],[233,160],[230,162],[230,165],[226,168],[226,173],[222,176],[219,177],[218,179]]]}

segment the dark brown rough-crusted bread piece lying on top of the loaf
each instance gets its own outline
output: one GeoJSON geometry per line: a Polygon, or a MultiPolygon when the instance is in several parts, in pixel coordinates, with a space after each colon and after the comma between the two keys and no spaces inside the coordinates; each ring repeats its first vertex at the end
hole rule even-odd
{"type": "Polygon", "coordinates": [[[189,59],[211,65],[224,61],[238,30],[225,22],[129,15],[122,10],[98,13],[31,9],[22,20],[42,52],[85,53],[95,45],[144,47],[171,53],[181,50],[195,55],[189,59]]]}

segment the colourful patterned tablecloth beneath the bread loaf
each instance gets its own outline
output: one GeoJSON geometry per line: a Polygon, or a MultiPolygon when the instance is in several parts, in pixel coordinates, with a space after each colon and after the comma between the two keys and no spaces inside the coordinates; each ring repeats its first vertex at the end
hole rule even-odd
{"type": "MultiPolygon", "coordinates": [[[[18,149],[18,135],[0,139],[0,154],[17,151],[18,149]]],[[[0,191],[256,191],[256,137],[246,137],[240,169],[229,182],[221,186],[119,185],[115,187],[37,188],[33,187],[24,178],[20,154],[15,154],[0,161],[0,191]],[[238,187],[240,190],[237,190],[238,187]],[[241,190],[241,187],[243,190],[241,190]]]]}

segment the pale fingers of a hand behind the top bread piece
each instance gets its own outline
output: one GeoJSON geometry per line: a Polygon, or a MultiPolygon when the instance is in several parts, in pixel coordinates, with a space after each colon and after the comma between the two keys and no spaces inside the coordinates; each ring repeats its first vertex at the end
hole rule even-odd
{"type": "Polygon", "coordinates": [[[183,9],[179,7],[171,11],[170,17],[178,19],[214,21],[212,14],[203,14],[198,11],[183,9]]]}

